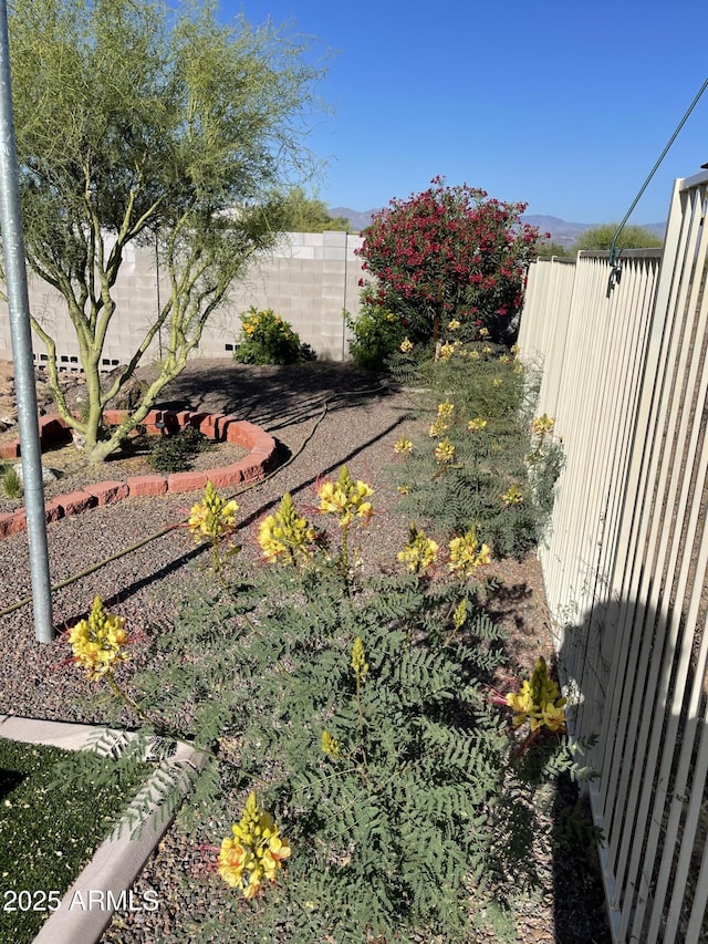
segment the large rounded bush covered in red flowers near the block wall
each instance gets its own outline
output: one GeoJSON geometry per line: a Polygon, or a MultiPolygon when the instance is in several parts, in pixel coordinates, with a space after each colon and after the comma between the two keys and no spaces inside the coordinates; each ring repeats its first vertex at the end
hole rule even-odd
{"type": "Polygon", "coordinates": [[[407,200],[394,199],[364,230],[358,250],[375,278],[364,284],[364,307],[394,313],[412,341],[456,336],[481,326],[493,341],[513,343],[525,270],[535,255],[537,227],[521,221],[525,204],[504,204],[440,177],[407,200]]]}

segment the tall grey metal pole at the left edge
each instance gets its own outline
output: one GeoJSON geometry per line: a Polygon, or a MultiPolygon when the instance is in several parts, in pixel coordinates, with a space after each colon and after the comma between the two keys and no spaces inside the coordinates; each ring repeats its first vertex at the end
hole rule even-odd
{"type": "Polygon", "coordinates": [[[0,229],[2,230],[2,255],[8,287],[12,360],[14,362],[14,390],[18,401],[20,444],[22,446],[22,480],[30,543],[34,627],[37,641],[49,643],[54,636],[52,591],[46,552],[42,449],[37,421],[37,392],[34,390],[30,304],[24,267],[19,170],[12,120],[7,0],[0,0],[0,229]]]}

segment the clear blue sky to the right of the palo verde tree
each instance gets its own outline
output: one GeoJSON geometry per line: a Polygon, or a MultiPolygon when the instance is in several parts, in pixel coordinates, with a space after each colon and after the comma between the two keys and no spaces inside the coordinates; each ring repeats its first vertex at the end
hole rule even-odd
{"type": "MultiPolygon", "coordinates": [[[[222,0],[329,53],[310,148],[319,196],[356,210],[431,177],[572,222],[624,217],[708,77],[705,3],[222,0]]],[[[673,180],[708,162],[708,90],[632,215],[666,219],[673,180]]]]}

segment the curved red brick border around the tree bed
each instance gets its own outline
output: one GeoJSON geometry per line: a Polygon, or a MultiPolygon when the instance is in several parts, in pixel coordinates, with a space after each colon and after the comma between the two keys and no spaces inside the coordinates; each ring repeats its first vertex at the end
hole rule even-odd
{"type": "MultiPolygon", "coordinates": [[[[117,426],[125,418],[124,409],[106,409],[105,422],[117,426]]],[[[275,465],[277,445],[272,436],[260,426],[222,413],[191,413],[152,409],[140,425],[148,434],[157,435],[162,425],[170,433],[194,426],[216,443],[236,443],[249,450],[248,456],[230,466],[205,471],[174,473],[173,475],[128,476],[125,481],[100,481],[87,485],[82,491],[72,491],[52,498],[44,506],[48,522],[67,515],[79,515],[97,505],[108,505],[123,498],[140,495],[165,495],[168,491],[192,491],[204,488],[210,479],[217,488],[229,488],[241,483],[259,481],[275,465]],[[160,426],[157,426],[157,424],[160,426]]],[[[69,438],[66,423],[60,416],[40,417],[42,449],[69,438]]],[[[0,458],[15,459],[20,455],[20,440],[0,445],[0,458]]],[[[0,515],[0,540],[27,529],[24,509],[0,515]]]]}

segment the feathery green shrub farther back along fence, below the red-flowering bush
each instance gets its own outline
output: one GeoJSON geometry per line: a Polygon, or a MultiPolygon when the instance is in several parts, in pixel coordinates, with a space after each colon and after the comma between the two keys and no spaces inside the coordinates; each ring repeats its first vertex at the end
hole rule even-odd
{"type": "Polygon", "coordinates": [[[563,458],[560,444],[531,434],[538,377],[486,343],[447,360],[399,355],[392,369],[418,391],[420,422],[412,453],[392,469],[400,511],[424,508],[457,533],[475,526],[494,557],[522,557],[542,539],[563,458]],[[445,404],[454,406],[449,416],[440,415],[445,404]],[[449,461],[438,455],[441,442],[454,447],[449,461]]]}

